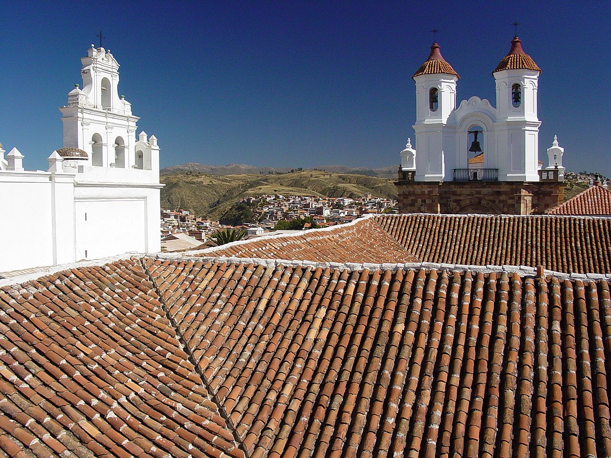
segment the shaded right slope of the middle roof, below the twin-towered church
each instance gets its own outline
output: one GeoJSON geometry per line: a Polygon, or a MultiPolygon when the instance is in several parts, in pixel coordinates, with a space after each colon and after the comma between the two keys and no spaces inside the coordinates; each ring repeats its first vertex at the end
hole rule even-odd
{"type": "Polygon", "coordinates": [[[424,262],[611,272],[611,219],[409,214],[376,220],[424,262]]]}

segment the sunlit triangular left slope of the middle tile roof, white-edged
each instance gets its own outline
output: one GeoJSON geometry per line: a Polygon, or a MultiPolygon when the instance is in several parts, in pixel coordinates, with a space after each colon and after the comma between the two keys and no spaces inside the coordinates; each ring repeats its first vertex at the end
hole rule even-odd
{"type": "Polygon", "coordinates": [[[295,236],[260,237],[206,250],[201,256],[236,256],[339,263],[417,261],[373,219],[357,220],[330,230],[309,230],[295,236]]]}

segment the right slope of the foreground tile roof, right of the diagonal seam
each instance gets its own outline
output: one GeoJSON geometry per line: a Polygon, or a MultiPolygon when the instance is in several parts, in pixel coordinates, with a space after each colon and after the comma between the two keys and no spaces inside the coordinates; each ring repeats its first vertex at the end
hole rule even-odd
{"type": "Polygon", "coordinates": [[[609,456],[606,280],[148,261],[252,456],[609,456]]]}

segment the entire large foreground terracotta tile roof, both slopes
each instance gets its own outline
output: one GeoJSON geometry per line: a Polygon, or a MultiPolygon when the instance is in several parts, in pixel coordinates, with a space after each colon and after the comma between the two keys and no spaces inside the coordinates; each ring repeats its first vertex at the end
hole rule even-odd
{"type": "Polygon", "coordinates": [[[610,300],[477,267],[73,267],[0,287],[0,450],[609,456],[610,300]]]}

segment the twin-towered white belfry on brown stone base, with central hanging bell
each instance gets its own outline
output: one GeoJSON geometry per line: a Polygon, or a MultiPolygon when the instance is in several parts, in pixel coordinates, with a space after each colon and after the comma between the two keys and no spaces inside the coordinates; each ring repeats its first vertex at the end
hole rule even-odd
{"type": "Polygon", "coordinates": [[[541,69],[514,37],[492,72],[496,107],[477,96],[456,104],[458,73],[437,43],[412,78],[415,149],[401,151],[400,213],[533,214],[562,202],[563,150],[538,161],[541,69]]]}

